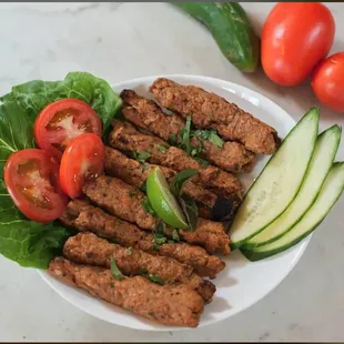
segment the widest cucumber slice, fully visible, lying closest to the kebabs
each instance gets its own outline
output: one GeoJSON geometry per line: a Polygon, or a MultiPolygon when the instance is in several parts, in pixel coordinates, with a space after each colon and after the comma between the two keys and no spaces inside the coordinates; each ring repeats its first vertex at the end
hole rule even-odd
{"type": "Polygon", "coordinates": [[[246,193],[229,231],[232,247],[263,231],[294,200],[314,151],[318,117],[312,108],[300,120],[246,193]]]}

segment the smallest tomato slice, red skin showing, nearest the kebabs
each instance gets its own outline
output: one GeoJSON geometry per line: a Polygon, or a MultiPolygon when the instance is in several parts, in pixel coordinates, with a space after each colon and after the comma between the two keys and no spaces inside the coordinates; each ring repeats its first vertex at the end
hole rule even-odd
{"type": "Polygon", "coordinates": [[[60,165],[62,190],[71,198],[82,195],[82,186],[104,171],[105,148],[95,134],[82,134],[65,149],[60,165]]]}

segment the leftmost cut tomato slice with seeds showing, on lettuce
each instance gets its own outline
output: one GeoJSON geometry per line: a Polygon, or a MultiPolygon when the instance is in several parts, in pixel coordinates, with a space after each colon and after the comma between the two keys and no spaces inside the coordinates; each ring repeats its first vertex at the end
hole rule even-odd
{"type": "Polygon", "coordinates": [[[28,149],[10,155],[4,183],[14,204],[30,220],[50,222],[63,214],[68,198],[60,188],[59,164],[47,152],[28,149]]]}

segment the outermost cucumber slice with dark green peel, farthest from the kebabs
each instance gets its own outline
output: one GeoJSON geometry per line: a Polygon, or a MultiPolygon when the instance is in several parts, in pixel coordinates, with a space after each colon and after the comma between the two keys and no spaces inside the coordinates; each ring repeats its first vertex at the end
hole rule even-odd
{"type": "Polygon", "coordinates": [[[336,162],[330,170],[315,202],[291,231],[270,244],[254,247],[250,251],[242,250],[242,253],[250,261],[260,261],[297,244],[302,239],[312,233],[326,217],[332,206],[341,196],[343,189],[344,163],[336,162]]]}

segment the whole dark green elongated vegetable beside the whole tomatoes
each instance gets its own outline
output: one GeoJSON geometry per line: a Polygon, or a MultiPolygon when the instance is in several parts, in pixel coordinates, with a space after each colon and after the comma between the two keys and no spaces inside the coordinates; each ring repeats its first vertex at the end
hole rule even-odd
{"type": "Polygon", "coordinates": [[[260,61],[260,40],[237,2],[173,2],[205,24],[225,58],[243,72],[260,61]]]}

